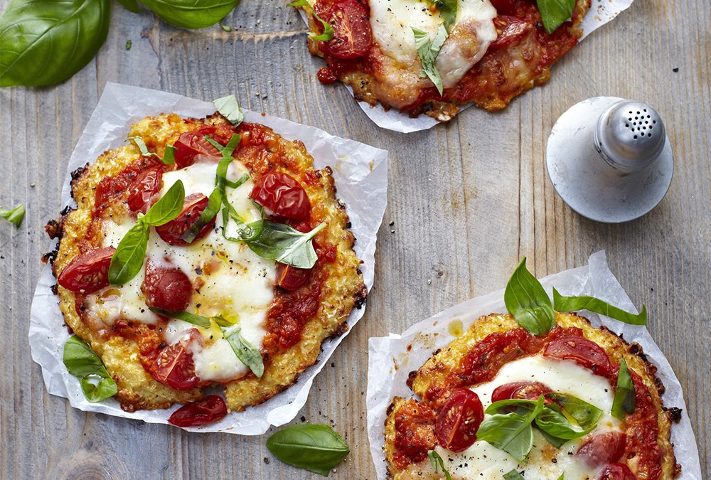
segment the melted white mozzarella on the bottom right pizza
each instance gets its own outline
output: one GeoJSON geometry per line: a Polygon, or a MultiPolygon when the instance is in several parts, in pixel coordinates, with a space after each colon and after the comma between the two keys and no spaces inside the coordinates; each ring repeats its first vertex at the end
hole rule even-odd
{"type": "MultiPolygon", "coordinates": [[[[508,453],[488,442],[474,442],[469,449],[453,453],[442,447],[437,452],[453,478],[501,480],[503,474],[515,469],[526,479],[557,479],[565,472],[565,480],[594,479],[601,468],[591,469],[584,459],[574,454],[590,437],[609,430],[621,430],[621,422],[610,415],[614,394],[607,380],[573,361],[543,356],[521,358],[507,363],[491,382],[471,390],[479,395],[486,410],[491,405],[491,393],[499,385],[512,382],[538,381],[556,392],[567,393],[595,405],[602,417],[595,430],[584,437],[573,439],[556,449],[533,429],[533,449],[526,462],[518,462],[508,453]]],[[[488,417],[488,415],[486,415],[488,417]]]]}

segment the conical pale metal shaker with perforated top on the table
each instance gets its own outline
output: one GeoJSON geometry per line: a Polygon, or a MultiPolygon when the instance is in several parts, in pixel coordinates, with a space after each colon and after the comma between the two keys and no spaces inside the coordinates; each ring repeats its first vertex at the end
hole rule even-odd
{"type": "Polygon", "coordinates": [[[673,154],[650,105],[594,97],[555,123],[546,148],[557,193],[580,215],[604,223],[641,217],[668,191],[673,154]]]}

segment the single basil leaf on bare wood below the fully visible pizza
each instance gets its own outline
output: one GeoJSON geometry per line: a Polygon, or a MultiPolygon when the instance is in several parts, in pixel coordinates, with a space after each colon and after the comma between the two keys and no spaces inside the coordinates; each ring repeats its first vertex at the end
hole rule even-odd
{"type": "Polygon", "coordinates": [[[328,476],[348,456],[343,438],[328,425],[291,425],[267,439],[267,449],[285,464],[328,476]]]}

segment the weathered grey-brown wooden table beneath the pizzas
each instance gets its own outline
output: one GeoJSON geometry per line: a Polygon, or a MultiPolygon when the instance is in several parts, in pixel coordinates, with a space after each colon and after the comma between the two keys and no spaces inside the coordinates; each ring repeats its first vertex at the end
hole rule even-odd
{"type": "MultiPolygon", "coordinates": [[[[0,7],[8,3],[0,0],[0,7]]],[[[299,415],[346,437],[351,455],[333,478],[375,478],[365,437],[370,336],[400,332],[503,287],[523,255],[543,276],[583,265],[601,249],[635,304],[648,307],[649,330],[681,380],[702,469],[711,474],[706,1],[637,0],[562,60],[548,85],[508,110],[472,108],[447,125],[409,135],[378,129],[345,89],[319,84],[321,60],[307,52],[304,25],[284,3],[243,0],[225,21],[236,27],[231,32],[183,31],[114,4],[107,43],[74,78],[57,87],[0,90],[0,205],[27,206],[21,228],[0,225],[0,478],[312,477],[274,459],[266,435],[190,434],[87,414],[46,393],[27,340],[39,259],[51,250],[43,225],[61,208],[68,159],[107,80],[204,100],[235,92],[251,110],[390,151],[388,206],[368,310],[334,354],[335,368],[316,378],[299,415]],[[675,151],[668,195],[624,225],[573,213],[545,170],[555,119],[597,95],[650,102],[675,151]]]]}

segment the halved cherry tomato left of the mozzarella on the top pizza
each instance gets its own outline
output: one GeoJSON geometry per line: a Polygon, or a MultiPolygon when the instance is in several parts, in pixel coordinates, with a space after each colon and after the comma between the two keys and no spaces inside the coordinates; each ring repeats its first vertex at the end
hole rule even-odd
{"type": "Polygon", "coordinates": [[[373,43],[373,29],[363,4],[356,0],[338,0],[326,16],[333,26],[333,38],[326,43],[336,58],[362,57],[373,43]]]}

